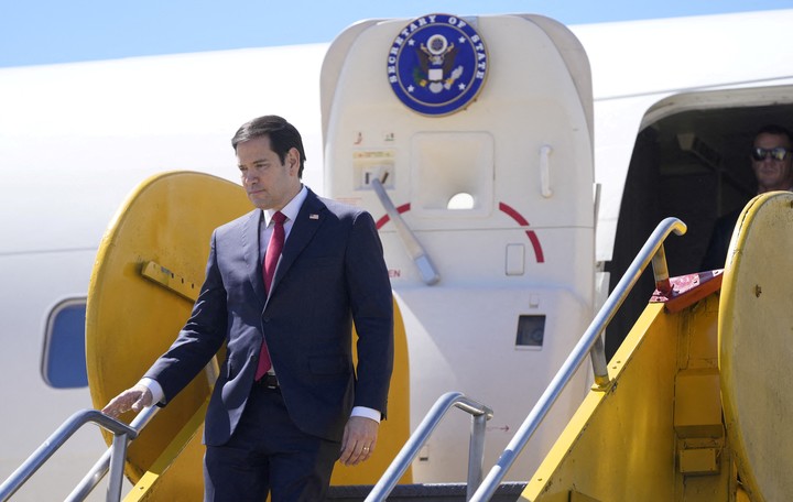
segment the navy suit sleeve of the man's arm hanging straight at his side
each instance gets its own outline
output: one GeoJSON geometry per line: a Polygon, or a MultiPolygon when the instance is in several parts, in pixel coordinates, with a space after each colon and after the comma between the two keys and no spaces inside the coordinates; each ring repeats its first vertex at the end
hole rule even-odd
{"type": "Polygon", "coordinates": [[[360,212],[347,244],[345,276],[358,334],[355,406],[387,415],[393,370],[393,299],[374,220],[360,212]]]}

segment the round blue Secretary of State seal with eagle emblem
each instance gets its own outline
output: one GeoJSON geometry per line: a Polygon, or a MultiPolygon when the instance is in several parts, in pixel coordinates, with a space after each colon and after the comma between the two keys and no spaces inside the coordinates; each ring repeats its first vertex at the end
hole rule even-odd
{"type": "Polygon", "coordinates": [[[388,79],[405,106],[427,116],[467,107],[487,76],[485,42],[467,21],[427,14],[410,22],[388,55],[388,79]]]}

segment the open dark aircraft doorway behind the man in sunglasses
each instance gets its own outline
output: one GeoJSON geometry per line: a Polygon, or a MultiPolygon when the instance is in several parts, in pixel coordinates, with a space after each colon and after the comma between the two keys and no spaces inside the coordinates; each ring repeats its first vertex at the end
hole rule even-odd
{"type": "MultiPolygon", "coordinates": [[[[758,87],[669,97],[650,108],[636,139],[622,193],[613,258],[606,265],[612,288],[649,234],[666,216],[686,222],[667,242],[671,275],[698,272],[716,219],[757,194],[749,149],[767,124],[793,128],[793,88],[758,87]]],[[[651,271],[609,325],[606,354],[613,354],[654,288],[651,271]]]]}

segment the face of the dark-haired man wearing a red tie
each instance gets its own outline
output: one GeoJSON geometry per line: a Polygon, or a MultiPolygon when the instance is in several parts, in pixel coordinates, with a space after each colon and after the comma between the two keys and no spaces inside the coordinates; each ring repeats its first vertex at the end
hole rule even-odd
{"type": "Polygon", "coordinates": [[[260,209],[280,210],[300,192],[300,153],[290,150],[282,163],[269,137],[237,144],[237,165],[248,198],[260,209]]]}

